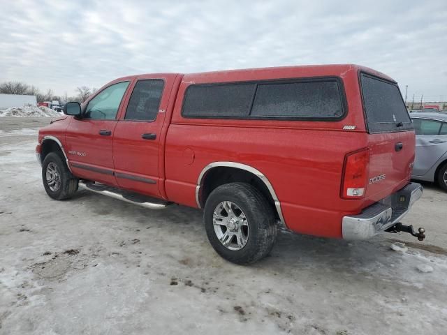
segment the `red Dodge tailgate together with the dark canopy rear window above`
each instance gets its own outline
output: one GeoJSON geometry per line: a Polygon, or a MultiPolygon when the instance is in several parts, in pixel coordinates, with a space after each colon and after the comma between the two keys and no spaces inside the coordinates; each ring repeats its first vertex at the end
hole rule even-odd
{"type": "Polygon", "coordinates": [[[409,182],[416,140],[395,82],[360,73],[360,86],[370,148],[366,198],[377,201],[409,182]]]}

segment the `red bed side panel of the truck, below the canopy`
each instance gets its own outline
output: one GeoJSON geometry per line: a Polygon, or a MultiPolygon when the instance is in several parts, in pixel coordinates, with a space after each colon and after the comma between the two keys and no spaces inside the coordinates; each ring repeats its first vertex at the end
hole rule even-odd
{"type": "Polygon", "coordinates": [[[342,216],[361,206],[339,197],[344,156],[363,141],[362,133],[341,131],[171,125],[166,142],[166,193],[174,202],[196,207],[196,184],[206,165],[243,163],[269,179],[288,228],[341,237],[342,216]]]}

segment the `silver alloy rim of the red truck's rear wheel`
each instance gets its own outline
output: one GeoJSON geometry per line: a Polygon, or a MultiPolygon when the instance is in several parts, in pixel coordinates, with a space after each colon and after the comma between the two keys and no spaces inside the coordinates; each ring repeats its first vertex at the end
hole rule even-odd
{"type": "Polygon", "coordinates": [[[212,215],[216,236],[226,248],[237,251],[247,244],[249,223],[237,204],[223,201],[217,205],[212,215]]]}

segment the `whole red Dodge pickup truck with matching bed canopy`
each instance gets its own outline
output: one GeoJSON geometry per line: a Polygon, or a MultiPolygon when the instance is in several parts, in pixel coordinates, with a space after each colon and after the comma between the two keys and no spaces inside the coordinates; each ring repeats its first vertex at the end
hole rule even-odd
{"type": "Polygon", "coordinates": [[[133,75],[39,131],[45,191],[78,187],[161,209],[204,209],[207,237],[239,264],[278,228],[368,239],[407,231],[415,135],[397,83],[355,65],[133,75]]]}

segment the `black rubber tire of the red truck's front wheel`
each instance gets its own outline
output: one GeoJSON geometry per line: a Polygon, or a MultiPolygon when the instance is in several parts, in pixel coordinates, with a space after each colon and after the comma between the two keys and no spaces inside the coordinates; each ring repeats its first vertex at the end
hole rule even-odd
{"type": "Polygon", "coordinates": [[[65,200],[71,198],[71,196],[78,191],[79,179],[71,174],[70,170],[68,170],[65,158],[58,152],[50,152],[50,154],[45,156],[42,163],[42,181],[47,195],[50,195],[50,197],[55,200],[65,200]],[[58,179],[58,188],[50,186],[47,181],[47,169],[48,165],[51,163],[51,167],[53,169],[55,167],[60,176],[58,179]]]}

